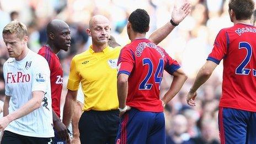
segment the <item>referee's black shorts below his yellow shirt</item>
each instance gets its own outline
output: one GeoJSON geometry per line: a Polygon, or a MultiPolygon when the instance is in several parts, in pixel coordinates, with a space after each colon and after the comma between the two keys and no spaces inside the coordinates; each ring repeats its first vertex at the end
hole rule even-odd
{"type": "Polygon", "coordinates": [[[115,143],[119,120],[119,110],[84,111],[78,124],[81,143],[115,143]]]}

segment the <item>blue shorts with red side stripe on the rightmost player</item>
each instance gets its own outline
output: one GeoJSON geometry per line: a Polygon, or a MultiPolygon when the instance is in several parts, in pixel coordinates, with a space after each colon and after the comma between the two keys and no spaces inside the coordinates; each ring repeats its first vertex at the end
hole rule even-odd
{"type": "Polygon", "coordinates": [[[221,143],[256,143],[256,113],[220,107],[218,128],[221,143]]]}

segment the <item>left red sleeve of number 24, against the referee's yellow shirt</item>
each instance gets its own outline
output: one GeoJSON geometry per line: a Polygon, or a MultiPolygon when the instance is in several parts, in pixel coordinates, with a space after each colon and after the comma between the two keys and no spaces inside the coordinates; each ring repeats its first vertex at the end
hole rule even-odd
{"type": "Polygon", "coordinates": [[[134,52],[128,47],[124,47],[118,58],[118,75],[125,73],[130,76],[132,69],[134,68],[135,56],[134,52]]]}

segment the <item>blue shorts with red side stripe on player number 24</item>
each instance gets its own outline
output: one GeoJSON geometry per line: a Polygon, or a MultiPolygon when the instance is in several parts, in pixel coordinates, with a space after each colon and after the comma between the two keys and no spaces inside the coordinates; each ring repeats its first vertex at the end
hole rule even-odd
{"type": "Polygon", "coordinates": [[[132,108],[120,120],[116,144],[165,143],[164,114],[132,108]]]}

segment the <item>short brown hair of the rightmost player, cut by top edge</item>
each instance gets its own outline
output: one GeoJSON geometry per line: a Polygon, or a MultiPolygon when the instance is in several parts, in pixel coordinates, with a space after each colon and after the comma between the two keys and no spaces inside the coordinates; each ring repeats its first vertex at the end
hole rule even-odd
{"type": "Polygon", "coordinates": [[[237,20],[247,20],[252,17],[254,11],[253,0],[230,0],[228,3],[230,10],[236,14],[237,20]]]}

